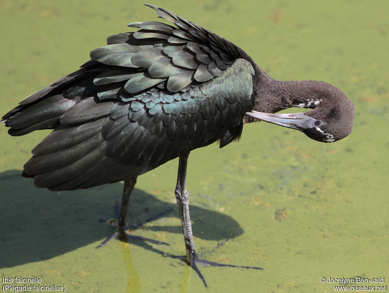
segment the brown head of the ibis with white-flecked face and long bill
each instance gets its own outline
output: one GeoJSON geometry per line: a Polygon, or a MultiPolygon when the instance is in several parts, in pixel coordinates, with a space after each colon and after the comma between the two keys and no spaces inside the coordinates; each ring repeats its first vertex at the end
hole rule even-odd
{"type": "Polygon", "coordinates": [[[261,121],[300,130],[320,142],[334,142],[347,137],[353,130],[354,105],[337,87],[312,82],[314,87],[303,90],[307,96],[293,101],[292,106],[312,108],[305,113],[273,114],[251,111],[246,115],[261,121]]]}

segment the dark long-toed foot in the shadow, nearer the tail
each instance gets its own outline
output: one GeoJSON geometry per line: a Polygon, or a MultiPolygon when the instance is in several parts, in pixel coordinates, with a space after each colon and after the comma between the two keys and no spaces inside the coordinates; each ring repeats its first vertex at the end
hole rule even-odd
{"type": "Polygon", "coordinates": [[[150,242],[150,243],[153,243],[153,244],[169,245],[169,243],[166,243],[166,242],[163,242],[163,241],[154,240],[154,239],[150,239],[150,238],[146,238],[146,237],[143,237],[143,236],[134,235],[131,232],[141,228],[143,225],[145,225],[145,224],[147,224],[149,222],[152,222],[154,220],[159,219],[160,217],[164,216],[165,214],[171,212],[172,210],[173,209],[169,209],[169,210],[166,210],[164,212],[161,212],[158,215],[155,215],[155,216],[152,216],[152,217],[146,219],[144,222],[142,222],[140,224],[132,224],[128,228],[125,228],[124,226],[119,226],[118,219],[111,219],[107,223],[110,226],[116,227],[117,228],[116,231],[114,233],[112,233],[112,235],[108,236],[105,241],[101,242],[98,246],[96,246],[96,248],[100,248],[100,247],[105,246],[106,243],[108,243],[109,241],[111,241],[112,239],[114,239],[116,237],[119,237],[119,239],[121,239],[121,238],[122,239],[126,239],[124,236],[130,237],[132,239],[137,239],[137,240],[141,240],[141,241],[145,241],[145,242],[150,242]]]}

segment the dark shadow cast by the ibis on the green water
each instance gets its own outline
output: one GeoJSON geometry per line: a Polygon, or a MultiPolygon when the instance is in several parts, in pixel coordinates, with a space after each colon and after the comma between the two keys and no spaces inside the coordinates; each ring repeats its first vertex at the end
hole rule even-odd
{"type": "MultiPolygon", "coordinates": [[[[51,259],[113,232],[106,220],[113,217],[115,202],[121,202],[122,183],[52,192],[35,188],[31,179],[20,174],[18,170],[0,173],[0,268],[51,259]]],[[[171,211],[164,217],[179,219],[176,204],[135,188],[127,222],[141,223],[167,210],[171,211]]],[[[191,217],[195,236],[204,240],[223,241],[243,233],[234,219],[216,211],[191,206],[191,217]]],[[[147,229],[182,234],[179,222],[173,222],[147,229]]],[[[163,250],[142,241],[133,243],[158,253],[163,250]]]]}

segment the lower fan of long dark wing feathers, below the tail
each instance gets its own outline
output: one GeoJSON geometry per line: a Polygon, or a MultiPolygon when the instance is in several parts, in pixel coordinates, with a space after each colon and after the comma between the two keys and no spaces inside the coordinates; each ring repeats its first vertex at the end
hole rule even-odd
{"type": "Polygon", "coordinates": [[[34,149],[23,176],[33,177],[36,187],[76,190],[123,180],[141,168],[130,168],[106,154],[101,134],[105,117],[79,124],[61,125],[34,149]]]}

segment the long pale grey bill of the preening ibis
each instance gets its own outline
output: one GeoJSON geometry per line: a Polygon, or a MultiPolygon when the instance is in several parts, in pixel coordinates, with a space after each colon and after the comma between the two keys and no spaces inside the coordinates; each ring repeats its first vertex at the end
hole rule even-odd
{"type": "Polygon", "coordinates": [[[300,131],[313,127],[313,123],[316,121],[316,119],[312,117],[305,116],[304,113],[273,114],[251,111],[246,112],[246,115],[261,121],[266,121],[300,131]]]}

